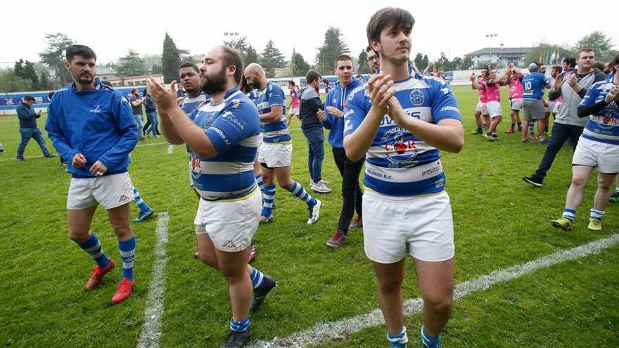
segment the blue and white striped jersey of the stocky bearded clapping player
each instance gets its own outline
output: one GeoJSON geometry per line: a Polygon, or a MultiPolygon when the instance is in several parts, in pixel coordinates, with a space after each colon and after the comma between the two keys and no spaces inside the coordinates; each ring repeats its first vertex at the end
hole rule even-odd
{"type": "Polygon", "coordinates": [[[260,141],[260,117],[252,101],[238,88],[226,92],[224,101],[208,102],[189,114],[205,129],[217,156],[203,158],[193,152],[191,179],[205,200],[234,200],[256,186],[253,162],[260,141]]]}

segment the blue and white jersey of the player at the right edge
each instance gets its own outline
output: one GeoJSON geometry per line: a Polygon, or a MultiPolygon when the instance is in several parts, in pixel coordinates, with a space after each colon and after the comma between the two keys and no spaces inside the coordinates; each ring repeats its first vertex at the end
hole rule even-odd
{"type": "MultiPolygon", "coordinates": [[[[604,101],[608,92],[616,86],[612,77],[606,81],[596,82],[587,91],[580,106],[604,101]]],[[[582,131],[582,137],[601,143],[619,145],[619,105],[613,101],[597,114],[589,116],[589,121],[582,131]]]]}

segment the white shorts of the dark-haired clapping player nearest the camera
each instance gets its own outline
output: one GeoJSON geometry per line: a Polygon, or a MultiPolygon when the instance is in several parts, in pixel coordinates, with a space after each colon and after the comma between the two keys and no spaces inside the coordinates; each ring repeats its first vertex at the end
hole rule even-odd
{"type": "Polygon", "coordinates": [[[420,197],[394,197],[372,190],[363,194],[366,256],[393,264],[408,253],[426,262],[454,257],[454,222],[445,191],[420,197]]]}

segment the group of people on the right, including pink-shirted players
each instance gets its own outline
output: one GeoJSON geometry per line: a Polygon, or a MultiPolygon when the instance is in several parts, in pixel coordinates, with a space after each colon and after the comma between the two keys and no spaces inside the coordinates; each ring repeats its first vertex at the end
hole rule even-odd
{"type": "Polygon", "coordinates": [[[598,187],[594,205],[589,214],[588,228],[601,231],[601,218],[609,201],[619,202],[619,156],[613,151],[619,145],[618,79],[619,56],[612,61],[595,61],[595,52],[583,48],[575,58],[564,58],[561,65],[552,65],[550,77],[543,63],[532,62],[528,74],[509,64],[502,75],[493,67],[483,67],[481,75],[471,74],[471,87],[479,92],[475,110],[476,131],[488,141],[496,141],[497,125],[502,121],[501,86],[509,85],[511,105],[510,134],[522,131],[521,141],[531,140],[548,146],[534,174],[523,181],[542,187],[556,154],[568,142],[573,147],[572,181],[566,195],[566,205],[559,219],[552,226],[570,230],[580,206],[582,193],[594,168],[598,169],[598,187]],[[595,67],[598,65],[600,68],[595,67]],[[544,89],[549,89],[544,99],[544,89]],[[521,122],[520,111],[523,111],[521,122]],[[549,134],[549,117],[554,123],[549,134]],[[537,134],[533,124],[537,122],[537,134]],[[529,134],[529,137],[528,137],[529,134]],[[615,181],[613,190],[612,184],[615,181]]]}

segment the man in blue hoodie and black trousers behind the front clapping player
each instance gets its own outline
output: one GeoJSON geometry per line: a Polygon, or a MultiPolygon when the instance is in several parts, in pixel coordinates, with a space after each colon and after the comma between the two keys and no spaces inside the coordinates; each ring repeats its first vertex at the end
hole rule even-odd
{"type": "MultiPolygon", "coordinates": [[[[376,52],[371,51],[376,57],[376,52]]],[[[368,53],[370,54],[370,53],[368,53]]],[[[376,59],[378,60],[378,59],[376,59]]],[[[374,60],[369,60],[369,63],[374,60]]],[[[333,160],[342,176],[342,210],[340,211],[340,219],[338,228],[333,237],[327,241],[326,245],[330,247],[339,247],[346,243],[348,229],[361,228],[363,226],[362,213],[362,196],[363,193],[359,188],[359,174],[365,160],[365,156],[357,162],[352,162],[346,157],[344,151],[344,112],[346,111],[346,99],[354,89],[362,86],[363,82],[352,78],[354,68],[352,67],[352,58],[342,55],[336,58],[335,73],[338,76],[339,84],[326,95],[325,108],[319,110],[318,117],[322,125],[326,129],[330,129],[328,141],[331,144],[333,152],[333,160]],[[353,215],[357,210],[357,219],[350,224],[353,215]]]]}

